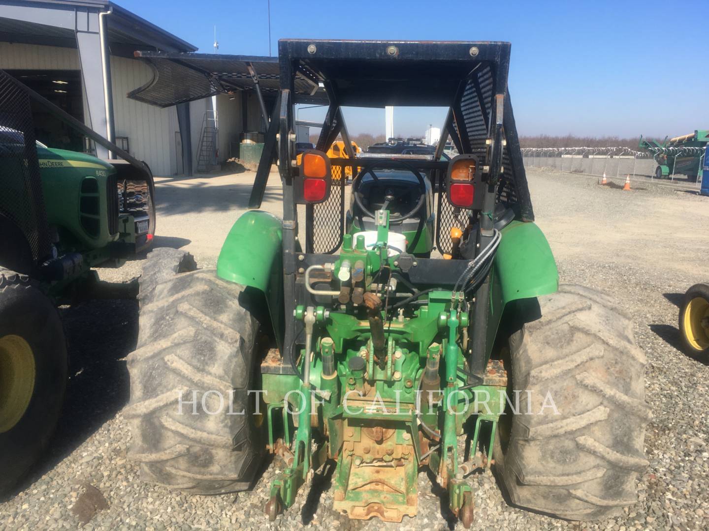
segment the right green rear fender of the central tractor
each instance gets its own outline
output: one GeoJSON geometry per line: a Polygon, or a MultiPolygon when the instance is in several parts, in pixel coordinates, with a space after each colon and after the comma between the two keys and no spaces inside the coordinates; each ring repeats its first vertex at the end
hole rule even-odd
{"type": "Polygon", "coordinates": [[[536,224],[513,221],[501,233],[491,274],[487,355],[491,354],[509,302],[549,295],[559,288],[559,272],[552,249],[536,224]]]}

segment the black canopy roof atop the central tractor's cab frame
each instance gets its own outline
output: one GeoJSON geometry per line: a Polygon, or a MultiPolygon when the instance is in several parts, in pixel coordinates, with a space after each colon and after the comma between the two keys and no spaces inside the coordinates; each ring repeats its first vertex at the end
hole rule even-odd
{"type": "MultiPolygon", "coordinates": [[[[355,107],[448,107],[462,84],[491,64],[506,81],[509,53],[508,42],[279,41],[279,56],[294,72],[326,80],[337,104],[355,107]]],[[[297,91],[294,101],[301,103],[297,91]]]]}

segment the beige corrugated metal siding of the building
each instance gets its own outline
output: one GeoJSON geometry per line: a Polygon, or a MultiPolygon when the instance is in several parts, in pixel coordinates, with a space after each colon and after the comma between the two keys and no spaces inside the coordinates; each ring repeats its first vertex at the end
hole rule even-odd
{"type": "MultiPolygon", "coordinates": [[[[11,44],[0,42],[1,69],[79,70],[79,53],[72,48],[11,44]]],[[[174,108],[160,109],[125,97],[126,93],[152,79],[150,67],[136,59],[111,56],[113,87],[113,117],[116,136],[128,137],[130,154],[144,160],[156,176],[170,176],[177,171],[175,132],[177,112],[174,108]]],[[[88,110],[84,98],[84,116],[88,110]]],[[[204,111],[211,108],[208,100],[190,103],[193,160],[204,111]]]]}

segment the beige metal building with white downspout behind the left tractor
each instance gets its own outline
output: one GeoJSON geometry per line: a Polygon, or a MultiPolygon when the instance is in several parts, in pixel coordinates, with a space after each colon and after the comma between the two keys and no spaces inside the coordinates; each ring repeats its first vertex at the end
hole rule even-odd
{"type": "MultiPolygon", "coordinates": [[[[212,133],[210,147],[201,140],[205,126],[214,125],[211,98],[168,108],[128,98],[157,79],[155,67],[135,58],[140,50],[194,52],[196,47],[111,1],[0,0],[0,69],[146,161],[155,175],[191,175],[206,147],[218,164],[242,130],[263,129],[254,98],[218,96],[220,129],[218,136],[212,133]],[[243,105],[253,108],[253,124],[242,119],[243,105]]],[[[38,139],[45,144],[107,156],[50,115],[36,113],[38,139]]]]}

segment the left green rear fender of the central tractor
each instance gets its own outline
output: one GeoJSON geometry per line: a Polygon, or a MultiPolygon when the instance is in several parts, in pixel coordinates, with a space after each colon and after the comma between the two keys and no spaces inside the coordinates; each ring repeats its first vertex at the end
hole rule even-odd
{"type": "Polygon", "coordinates": [[[219,278],[264,295],[279,343],[284,323],[282,242],[280,219],[249,210],[231,227],[217,260],[219,278]]]}

